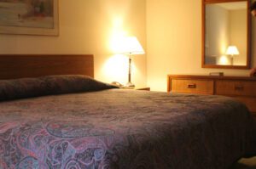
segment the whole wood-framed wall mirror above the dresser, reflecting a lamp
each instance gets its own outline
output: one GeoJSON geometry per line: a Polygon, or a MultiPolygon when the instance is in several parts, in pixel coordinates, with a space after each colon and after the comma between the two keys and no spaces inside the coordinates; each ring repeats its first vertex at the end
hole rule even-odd
{"type": "Polygon", "coordinates": [[[202,0],[202,67],[249,69],[249,0],[202,0]]]}

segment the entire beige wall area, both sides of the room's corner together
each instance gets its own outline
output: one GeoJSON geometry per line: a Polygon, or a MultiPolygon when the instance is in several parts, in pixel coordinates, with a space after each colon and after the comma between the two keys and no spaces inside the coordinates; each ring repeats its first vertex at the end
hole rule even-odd
{"type": "MultiPolygon", "coordinates": [[[[109,47],[114,34],[126,32],[147,49],[147,58],[133,59],[137,87],[145,86],[147,78],[148,87],[166,91],[168,74],[248,75],[248,70],[201,68],[201,0],[60,0],[59,8],[60,37],[0,35],[0,53],[94,54],[96,79],[126,82],[127,59],[113,57],[109,47]]],[[[255,39],[253,31],[253,66],[255,39]]]]}

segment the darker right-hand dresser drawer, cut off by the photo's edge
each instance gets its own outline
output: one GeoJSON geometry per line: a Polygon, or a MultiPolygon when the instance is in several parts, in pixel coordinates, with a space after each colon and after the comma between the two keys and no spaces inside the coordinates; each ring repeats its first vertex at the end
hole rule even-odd
{"type": "Polygon", "coordinates": [[[218,80],[215,92],[228,96],[256,96],[256,82],[218,80]]]}

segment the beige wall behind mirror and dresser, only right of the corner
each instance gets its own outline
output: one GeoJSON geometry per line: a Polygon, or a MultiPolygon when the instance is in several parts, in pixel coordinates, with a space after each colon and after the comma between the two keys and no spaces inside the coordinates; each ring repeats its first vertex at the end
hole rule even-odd
{"type": "MultiPolygon", "coordinates": [[[[253,20],[253,28],[255,29],[253,20]]],[[[255,48],[255,33],[253,44],[255,48]]],[[[248,76],[249,70],[201,68],[201,0],[147,1],[148,86],[166,91],[168,74],[248,76]]],[[[256,54],[253,49],[253,66],[256,54]]]]}

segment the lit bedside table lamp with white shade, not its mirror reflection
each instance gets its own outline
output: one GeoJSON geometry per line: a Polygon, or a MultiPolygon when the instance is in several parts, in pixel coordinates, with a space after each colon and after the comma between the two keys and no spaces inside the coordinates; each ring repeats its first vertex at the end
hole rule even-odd
{"type": "Polygon", "coordinates": [[[145,54],[142,45],[138,42],[137,37],[125,37],[122,54],[129,55],[129,72],[128,82],[125,87],[133,88],[135,85],[131,82],[131,55],[145,54]]]}

